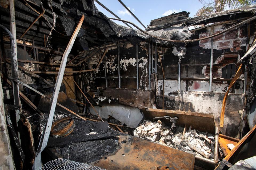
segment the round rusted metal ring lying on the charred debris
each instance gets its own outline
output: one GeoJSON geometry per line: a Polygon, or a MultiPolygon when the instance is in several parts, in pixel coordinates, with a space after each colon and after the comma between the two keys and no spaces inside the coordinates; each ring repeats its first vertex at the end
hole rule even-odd
{"type": "Polygon", "coordinates": [[[75,127],[75,121],[71,117],[64,117],[56,122],[51,127],[51,136],[52,137],[64,137],[69,135],[75,127]],[[60,130],[54,130],[56,127],[58,127],[61,124],[65,124],[69,122],[64,128],[60,130]]]}

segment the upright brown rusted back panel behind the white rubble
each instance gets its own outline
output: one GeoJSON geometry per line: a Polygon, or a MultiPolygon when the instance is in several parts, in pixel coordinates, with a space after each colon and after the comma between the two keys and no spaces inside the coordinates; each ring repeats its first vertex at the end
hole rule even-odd
{"type": "Polygon", "coordinates": [[[177,125],[184,126],[185,124],[192,126],[202,132],[215,132],[215,122],[213,114],[184,112],[162,109],[146,109],[143,110],[144,116],[147,120],[153,120],[154,117],[170,116],[178,117],[177,125]]]}

